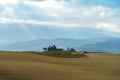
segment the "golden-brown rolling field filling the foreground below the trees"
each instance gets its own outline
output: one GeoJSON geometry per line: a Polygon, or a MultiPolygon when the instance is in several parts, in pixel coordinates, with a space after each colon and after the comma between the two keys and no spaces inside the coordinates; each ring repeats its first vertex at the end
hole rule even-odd
{"type": "Polygon", "coordinates": [[[0,52],[0,80],[120,80],[120,55],[55,58],[0,52]]]}

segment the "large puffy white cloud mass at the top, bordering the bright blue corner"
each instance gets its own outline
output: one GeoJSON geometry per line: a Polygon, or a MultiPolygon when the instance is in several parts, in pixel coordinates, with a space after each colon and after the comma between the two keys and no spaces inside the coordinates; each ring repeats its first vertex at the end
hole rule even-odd
{"type": "MultiPolygon", "coordinates": [[[[24,4],[28,6],[36,7],[37,9],[42,9],[48,14],[57,14],[59,16],[67,17],[110,17],[115,11],[108,7],[103,6],[76,6],[72,1],[56,1],[56,0],[46,0],[46,1],[24,1],[24,4]]],[[[51,15],[50,15],[51,16],[51,15]]]]}

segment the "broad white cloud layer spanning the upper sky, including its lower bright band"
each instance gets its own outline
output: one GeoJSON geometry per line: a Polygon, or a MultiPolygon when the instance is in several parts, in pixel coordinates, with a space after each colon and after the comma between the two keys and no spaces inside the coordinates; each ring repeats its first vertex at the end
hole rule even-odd
{"type": "MultiPolygon", "coordinates": [[[[18,0],[15,3],[17,2],[18,0]]],[[[116,22],[120,21],[120,8],[84,5],[80,3],[83,2],[82,0],[79,1],[79,4],[73,0],[24,0],[21,2],[22,5],[17,3],[17,6],[11,8],[13,9],[12,14],[14,13],[11,16],[11,11],[7,9],[10,6],[6,7],[5,11],[3,11],[4,15],[1,14],[0,17],[1,24],[18,23],[63,28],[86,27],[109,32],[120,32],[120,23],[116,22]],[[21,8],[23,5],[25,7],[21,8]]]]}

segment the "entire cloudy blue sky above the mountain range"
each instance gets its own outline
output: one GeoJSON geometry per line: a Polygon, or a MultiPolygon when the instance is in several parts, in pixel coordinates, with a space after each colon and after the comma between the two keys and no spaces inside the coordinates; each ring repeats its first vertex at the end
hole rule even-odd
{"type": "Polygon", "coordinates": [[[119,35],[119,0],[0,0],[0,45],[119,35]]]}

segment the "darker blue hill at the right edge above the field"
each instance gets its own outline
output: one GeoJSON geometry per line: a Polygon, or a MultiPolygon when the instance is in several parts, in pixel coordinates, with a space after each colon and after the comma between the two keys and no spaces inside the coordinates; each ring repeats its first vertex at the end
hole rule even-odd
{"type": "Polygon", "coordinates": [[[87,44],[77,49],[89,52],[111,52],[120,53],[120,39],[111,39],[104,42],[87,44]]]}

